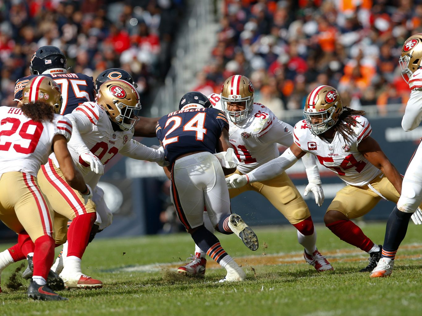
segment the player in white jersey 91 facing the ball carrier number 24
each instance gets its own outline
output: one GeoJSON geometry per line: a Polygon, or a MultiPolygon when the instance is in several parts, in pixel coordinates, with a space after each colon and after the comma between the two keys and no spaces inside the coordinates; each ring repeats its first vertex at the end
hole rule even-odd
{"type": "MultiPolygon", "coordinates": [[[[234,75],[227,78],[222,86],[221,94],[208,96],[214,107],[224,110],[229,119],[229,140],[240,161],[236,174],[249,171],[279,156],[277,143],[289,147],[292,145],[292,126],[276,117],[276,115],[260,103],[254,103],[254,86],[245,76],[234,75]]],[[[312,191],[317,204],[322,205],[323,192],[321,179],[314,157],[307,155],[306,172],[309,184],[305,195],[312,191]]],[[[311,219],[308,206],[285,172],[274,179],[249,184],[242,188],[231,188],[230,198],[243,192],[253,190],[265,196],[276,209],[298,230],[298,242],[304,248],[306,262],[317,271],[333,270],[333,267],[317,250],[317,234],[311,219]]],[[[206,228],[214,232],[214,227],[204,212],[206,228]]],[[[179,267],[180,273],[203,276],[206,268],[206,253],[195,246],[195,257],[191,262],[179,267]]]]}

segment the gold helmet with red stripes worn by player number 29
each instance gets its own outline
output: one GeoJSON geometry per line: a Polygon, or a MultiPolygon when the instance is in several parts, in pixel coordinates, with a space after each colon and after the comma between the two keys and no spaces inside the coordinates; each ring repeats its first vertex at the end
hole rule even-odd
{"type": "Polygon", "coordinates": [[[53,79],[47,76],[36,76],[28,81],[22,91],[22,101],[14,101],[22,104],[42,101],[51,105],[56,114],[60,113],[62,107],[62,93],[59,85],[53,79]]]}

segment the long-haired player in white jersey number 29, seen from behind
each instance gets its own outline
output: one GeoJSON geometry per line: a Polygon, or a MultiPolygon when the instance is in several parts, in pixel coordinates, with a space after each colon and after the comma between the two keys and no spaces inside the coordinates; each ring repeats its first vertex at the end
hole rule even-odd
{"type": "Polygon", "coordinates": [[[56,153],[64,181],[79,192],[85,204],[92,194],[68,151],[72,125],[57,114],[62,106],[57,83],[46,76],[32,78],[19,103],[20,108],[0,107],[0,219],[19,234],[19,252],[27,256],[33,270],[28,297],[67,300],[52,290],[64,287],[50,271],[54,258],[53,209],[39,189],[41,164],[50,153],[56,153]]]}

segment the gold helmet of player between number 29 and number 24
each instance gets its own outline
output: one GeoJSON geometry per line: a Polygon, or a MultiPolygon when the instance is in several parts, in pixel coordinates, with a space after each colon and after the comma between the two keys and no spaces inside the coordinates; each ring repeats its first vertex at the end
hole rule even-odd
{"type": "Polygon", "coordinates": [[[136,88],[120,79],[108,80],[98,90],[97,103],[107,111],[111,121],[118,124],[122,131],[132,129],[139,120],[141,110],[136,88]]]}

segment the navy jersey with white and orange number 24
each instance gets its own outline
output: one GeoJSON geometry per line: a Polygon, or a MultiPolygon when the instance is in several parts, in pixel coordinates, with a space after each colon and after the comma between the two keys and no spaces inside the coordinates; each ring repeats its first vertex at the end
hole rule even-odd
{"type": "Polygon", "coordinates": [[[187,109],[164,115],[157,123],[157,138],[170,164],[193,151],[215,153],[224,128],[229,128],[224,112],[214,108],[187,109]]]}

